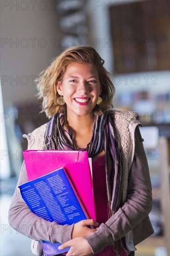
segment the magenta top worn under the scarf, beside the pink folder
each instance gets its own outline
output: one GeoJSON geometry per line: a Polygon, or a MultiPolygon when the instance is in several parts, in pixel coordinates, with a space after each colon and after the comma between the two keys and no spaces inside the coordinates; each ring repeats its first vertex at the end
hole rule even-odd
{"type": "MultiPolygon", "coordinates": [[[[108,219],[107,209],[107,188],[106,188],[106,175],[105,175],[105,155],[98,157],[95,161],[92,161],[92,179],[93,179],[93,191],[96,205],[96,221],[99,223],[105,223],[108,219]]],[[[124,238],[122,243],[125,246],[124,238]]],[[[96,254],[97,256],[116,256],[116,252],[113,251],[112,246],[106,246],[102,252],[96,254]]],[[[121,256],[126,256],[126,253],[122,253],[121,256]]]]}

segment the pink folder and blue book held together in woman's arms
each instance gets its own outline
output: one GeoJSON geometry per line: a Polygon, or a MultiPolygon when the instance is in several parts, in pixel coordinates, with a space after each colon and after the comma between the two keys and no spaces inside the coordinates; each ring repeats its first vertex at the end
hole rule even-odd
{"type": "MultiPolygon", "coordinates": [[[[86,151],[25,150],[23,156],[28,182],[19,189],[34,214],[61,225],[96,221],[92,166],[86,151]]],[[[59,250],[59,245],[43,241],[44,256],[69,250],[59,250]]]]}

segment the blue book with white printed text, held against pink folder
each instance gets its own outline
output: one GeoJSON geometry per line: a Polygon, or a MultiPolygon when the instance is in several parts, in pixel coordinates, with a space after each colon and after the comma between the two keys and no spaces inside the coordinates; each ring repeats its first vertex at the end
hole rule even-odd
{"type": "MultiPolygon", "coordinates": [[[[88,219],[65,168],[59,168],[19,186],[22,198],[34,214],[61,225],[88,219]]],[[[60,243],[43,241],[44,256],[67,252],[59,250],[60,243]]]]}

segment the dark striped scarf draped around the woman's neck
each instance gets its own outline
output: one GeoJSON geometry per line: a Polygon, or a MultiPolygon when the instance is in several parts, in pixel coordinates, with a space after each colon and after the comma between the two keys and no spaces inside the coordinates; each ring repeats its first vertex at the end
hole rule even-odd
{"type": "MultiPolygon", "coordinates": [[[[74,145],[74,136],[66,125],[66,115],[58,113],[48,122],[45,133],[44,149],[80,150],[74,145]]],[[[118,139],[113,120],[108,112],[95,115],[92,138],[86,148],[89,157],[105,151],[105,172],[109,218],[118,210],[122,199],[122,168],[118,150],[118,139]]]]}

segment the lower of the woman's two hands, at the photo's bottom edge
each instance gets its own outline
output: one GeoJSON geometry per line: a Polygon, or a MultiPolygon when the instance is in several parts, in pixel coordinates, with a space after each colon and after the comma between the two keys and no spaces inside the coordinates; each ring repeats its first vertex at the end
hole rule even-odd
{"type": "Polygon", "coordinates": [[[63,243],[58,248],[61,250],[70,246],[71,248],[67,252],[66,256],[92,256],[93,255],[92,249],[84,237],[76,237],[72,240],[69,240],[66,243],[63,243]]]}

